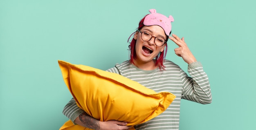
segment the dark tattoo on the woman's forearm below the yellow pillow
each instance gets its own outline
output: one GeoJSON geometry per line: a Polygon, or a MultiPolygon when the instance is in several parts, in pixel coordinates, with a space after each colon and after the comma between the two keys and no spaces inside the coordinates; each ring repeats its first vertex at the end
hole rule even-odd
{"type": "Polygon", "coordinates": [[[99,130],[99,121],[90,117],[86,112],[80,114],[79,119],[87,128],[99,130]]]}

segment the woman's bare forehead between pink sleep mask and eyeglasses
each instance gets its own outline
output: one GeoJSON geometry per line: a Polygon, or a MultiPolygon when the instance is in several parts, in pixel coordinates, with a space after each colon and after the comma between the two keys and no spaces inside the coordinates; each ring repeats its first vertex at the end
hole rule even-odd
{"type": "Polygon", "coordinates": [[[166,34],[164,33],[164,29],[161,26],[153,25],[153,26],[143,26],[141,31],[147,31],[154,36],[161,36],[166,38],[166,34]]]}

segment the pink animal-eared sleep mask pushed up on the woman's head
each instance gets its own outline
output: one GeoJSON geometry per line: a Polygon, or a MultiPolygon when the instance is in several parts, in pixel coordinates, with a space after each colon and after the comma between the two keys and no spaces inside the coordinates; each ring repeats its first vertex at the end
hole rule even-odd
{"type": "Polygon", "coordinates": [[[158,25],[161,26],[164,29],[164,32],[166,35],[170,35],[171,33],[171,22],[174,21],[173,16],[169,15],[167,18],[165,15],[162,15],[161,13],[157,13],[155,9],[149,10],[150,14],[146,16],[144,19],[143,24],[145,26],[152,26],[152,25],[158,25]]]}

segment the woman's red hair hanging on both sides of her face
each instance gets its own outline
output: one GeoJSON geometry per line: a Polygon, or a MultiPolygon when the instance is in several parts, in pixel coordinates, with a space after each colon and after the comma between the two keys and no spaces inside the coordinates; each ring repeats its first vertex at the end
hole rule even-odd
{"type": "MultiPolygon", "coordinates": [[[[146,15],[146,16],[147,16],[147,15],[146,15]]],[[[145,17],[146,17],[146,16],[145,16],[145,17]]],[[[143,24],[145,17],[140,20],[140,22],[139,22],[139,27],[138,27],[137,29],[140,30],[143,26],[145,26],[145,25],[143,24]]],[[[134,33],[135,33],[135,32],[134,32],[134,33]]],[[[132,34],[134,34],[134,33],[132,33],[132,34]]],[[[166,36],[167,36],[167,35],[166,35],[166,36]]],[[[131,35],[130,35],[130,37],[131,37],[131,35]]],[[[129,37],[129,39],[130,39],[130,37],[129,37]]],[[[128,40],[129,40],[129,39],[128,39],[128,40]]],[[[155,59],[156,59],[155,66],[158,66],[160,70],[165,68],[165,66],[164,66],[164,60],[165,60],[166,53],[167,53],[167,41],[168,41],[168,36],[167,36],[167,38],[166,38],[166,46],[165,46],[164,51],[163,51],[163,52],[160,52],[159,55],[157,55],[157,56],[155,57],[155,59]]],[[[132,63],[132,64],[134,64],[133,60],[137,58],[136,50],[135,50],[135,44],[136,44],[136,40],[135,40],[134,38],[132,38],[132,41],[130,42],[130,45],[129,45],[129,50],[130,50],[130,63],[132,63]]]]}

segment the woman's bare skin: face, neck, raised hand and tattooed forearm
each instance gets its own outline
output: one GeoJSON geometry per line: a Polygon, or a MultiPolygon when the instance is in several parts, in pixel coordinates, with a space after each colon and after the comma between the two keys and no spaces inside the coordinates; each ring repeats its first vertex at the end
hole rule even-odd
{"type": "MultiPolygon", "coordinates": [[[[160,26],[153,25],[153,26],[144,26],[141,28],[141,31],[148,31],[151,33],[151,35],[155,37],[164,37],[166,38],[166,35],[164,33],[164,29],[162,29],[160,26]]],[[[172,40],[175,44],[177,44],[178,48],[175,48],[175,54],[179,57],[182,57],[184,62],[187,64],[191,64],[193,62],[196,62],[196,59],[194,55],[189,50],[186,42],[184,41],[184,37],[181,39],[173,34],[172,37],[168,37],[170,40],[172,40]]],[[[141,39],[141,33],[136,32],[134,35],[134,39],[136,41],[136,56],[137,58],[134,59],[134,65],[142,70],[153,70],[155,68],[159,68],[158,66],[155,66],[155,60],[154,58],[158,55],[159,52],[164,51],[163,46],[156,46],[154,44],[154,38],[149,40],[148,42],[144,42],[141,39]],[[143,46],[146,46],[147,48],[150,48],[153,52],[148,54],[145,53],[142,49],[143,46]]],[[[98,121],[97,119],[94,119],[90,117],[87,113],[82,113],[77,117],[74,121],[80,126],[84,126],[86,128],[91,128],[94,130],[129,130],[132,126],[126,126],[127,123],[123,121],[98,121]]]]}

